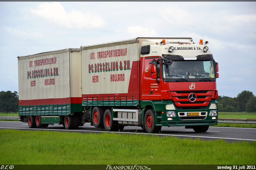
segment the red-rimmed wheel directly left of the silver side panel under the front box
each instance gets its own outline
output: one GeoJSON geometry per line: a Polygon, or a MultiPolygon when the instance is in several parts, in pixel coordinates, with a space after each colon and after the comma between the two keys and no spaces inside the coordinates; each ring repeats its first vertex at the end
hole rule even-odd
{"type": "Polygon", "coordinates": [[[118,128],[118,122],[113,121],[110,109],[105,111],[103,122],[106,131],[116,131],[118,128]]]}

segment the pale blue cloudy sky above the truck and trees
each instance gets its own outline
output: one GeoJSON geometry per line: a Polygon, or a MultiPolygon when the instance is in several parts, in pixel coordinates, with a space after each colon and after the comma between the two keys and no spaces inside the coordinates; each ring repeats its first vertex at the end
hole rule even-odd
{"type": "Polygon", "coordinates": [[[137,37],[208,41],[220,96],[256,95],[256,2],[0,2],[0,91],[18,56],[137,37]]]}

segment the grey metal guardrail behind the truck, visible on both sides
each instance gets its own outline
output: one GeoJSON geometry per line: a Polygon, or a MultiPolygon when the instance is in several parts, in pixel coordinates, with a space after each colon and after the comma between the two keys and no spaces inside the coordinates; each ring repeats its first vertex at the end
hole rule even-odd
{"type": "MultiPolygon", "coordinates": [[[[20,120],[20,117],[4,117],[4,116],[0,116],[0,120],[20,120]]],[[[229,118],[218,118],[218,123],[256,124],[256,119],[229,119],[229,118]]]]}

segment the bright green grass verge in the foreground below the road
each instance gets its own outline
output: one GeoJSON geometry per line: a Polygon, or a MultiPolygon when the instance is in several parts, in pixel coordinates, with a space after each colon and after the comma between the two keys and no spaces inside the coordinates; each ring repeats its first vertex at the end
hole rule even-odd
{"type": "Polygon", "coordinates": [[[256,142],[0,130],[0,164],[255,164],[256,142]]]}

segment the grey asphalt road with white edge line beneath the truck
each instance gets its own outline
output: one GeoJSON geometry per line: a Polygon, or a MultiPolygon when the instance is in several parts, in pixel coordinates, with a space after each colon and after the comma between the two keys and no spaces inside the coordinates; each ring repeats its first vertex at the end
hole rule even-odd
{"type": "MultiPolygon", "coordinates": [[[[28,123],[16,121],[0,121],[0,130],[5,128],[18,129],[18,130],[56,130],[56,131],[69,131],[80,133],[102,133],[105,129],[95,128],[86,123],[83,127],[77,130],[66,130],[62,125],[54,124],[49,125],[48,128],[28,128],[28,123]]],[[[112,133],[112,132],[111,132],[112,133]]],[[[115,133],[128,133],[128,134],[142,134],[148,135],[141,127],[124,127],[121,132],[115,133]]],[[[179,138],[200,138],[202,140],[217,140],[223,139],[226,142],[247,141],[254,142],[256,140],[256,128],[232,128],[232,127],[209,127],[207,132],[196,133],[193,129],[185,129],[185,127],[162,127],[158,136],[177,136],[179,138]]]]}

